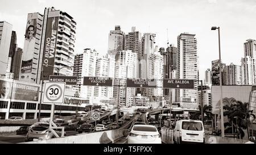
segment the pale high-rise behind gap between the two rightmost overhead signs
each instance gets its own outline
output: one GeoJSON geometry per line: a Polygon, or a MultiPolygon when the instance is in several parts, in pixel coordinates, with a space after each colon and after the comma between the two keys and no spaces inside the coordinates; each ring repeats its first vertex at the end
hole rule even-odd
{"type": "Polygon", "coordinates": [[[155,52],[149,57],[149,76],[150,79],[156,80],[157,88],[148,89],[148,95],[151,96],[163,96],[163,56],[160,55],[160,52],[155,52]]]}

